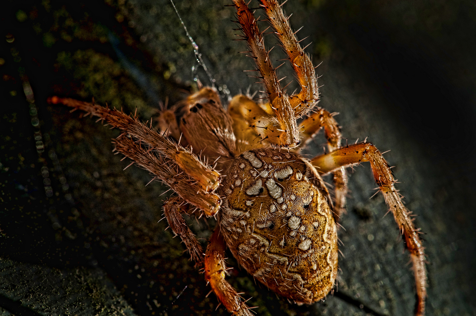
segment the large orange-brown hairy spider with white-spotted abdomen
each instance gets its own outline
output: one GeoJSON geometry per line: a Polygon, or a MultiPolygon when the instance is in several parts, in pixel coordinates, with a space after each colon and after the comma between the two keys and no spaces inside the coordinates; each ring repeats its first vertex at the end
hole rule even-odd
{"type": "Polygon", "coordinates": [[[257,18],[244,0],[233,0],[239,35],[266,89],[268,102],[237,95],[222,107],[217,90],[200,87],[159,116],[157,132],[136,115],[94,103],[50,98],[99,117],[123,133],[115,150],[149,170],[176,195],[164,202],[170,228],[180,236],[197,266],[204,265],[207,284],[234,315],[252,315],[225,276],[228,247],[249,274],[297,304],[324,298],[337,277],[337,222],[347,195],[346,167],[370,162],[389,211],[404,235],[416,279],[416,315],[424,315],[425,254],[422,243],[394,187],[391,169],[370,142],[341,146],[337,121],[317,107],[315,67],[301,48],[277,0],[260,0],[270,27],[296,73],[301,91],[288,95],[264,46],[257,18]],[[299,124],[297,119],[305,117],[299,124]],[[328,153],[312,159],[297,154],[321,129],[328,153]],[[211,164],[209,164],[209,162],[211,164]],[[213,166],[213,167],[212,167],[213,166]],[[321,176],[332,173],[334,199],[321,176]],[[217,218],[206,252],[186,225],[182,213],[198,211],[217,218]]]}

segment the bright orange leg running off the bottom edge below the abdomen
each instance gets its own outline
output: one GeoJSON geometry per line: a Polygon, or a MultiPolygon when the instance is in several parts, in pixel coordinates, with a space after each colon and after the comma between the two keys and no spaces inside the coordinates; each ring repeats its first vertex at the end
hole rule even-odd
{"type": "Polygon", "coordinates": [[[208,243],[205,254],[205,280],[210,284],[218,300],[228,312],[239,316],[252,316],[248,306],[237,291],[226,280],[225,242],[220,235],[219,227],[215,229],[208,243]]]}

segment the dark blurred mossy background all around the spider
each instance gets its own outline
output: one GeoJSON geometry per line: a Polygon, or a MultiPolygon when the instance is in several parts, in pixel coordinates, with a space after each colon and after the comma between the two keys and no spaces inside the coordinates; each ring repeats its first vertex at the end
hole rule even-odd
{"type": "MultiPolygon", "coordinates": [[[[235,95],[260,87],[241,72],[253,65],[238,53],[245,42],[232,41],[229,2],[176,4],[217,87],[235,95]]],[[[427,315],[476,315],[475,2],[289,0],[283,8],[322,61],[320,106],[340,113],[344,138],[391,149],[385,157],[426,233],[427,315]]],[[[4,0],[0,19],[0,315],[228,315],[158,223],[167,188],[145,187],[151,177],[137,167],[122,170],[130,162],[111,153],[117,131],[46,103],[94,97],[137,108],[145,121],[159,102],[196,89],[196,76],[208,85],[202,68],[192,71],[194,51],[170,2],[4,0]]],[[[277,48],[272,58],[284,56],[277,48]]],[[[305,154],[324,144],[317,137],[305,154]]],[[[409,257],[383,198],[370,198],[368,165],[350,171],[349,187],[338,291],[324,302],[289,304],[230,254],[228,280],[253,296],[258,315],[412,315],[409,257]]],[[[188,222],[205,245],[214,220],[188,222]]]]}

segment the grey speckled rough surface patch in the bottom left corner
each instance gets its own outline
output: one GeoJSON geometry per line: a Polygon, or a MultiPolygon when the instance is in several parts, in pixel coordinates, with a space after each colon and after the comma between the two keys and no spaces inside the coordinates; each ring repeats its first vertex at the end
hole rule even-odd
{"type": "Polygon", "coordinates": [[[2,259],[0,278],[2,295],[40,315],[137,315],[99,268],[60,270],[2,259]]]}

